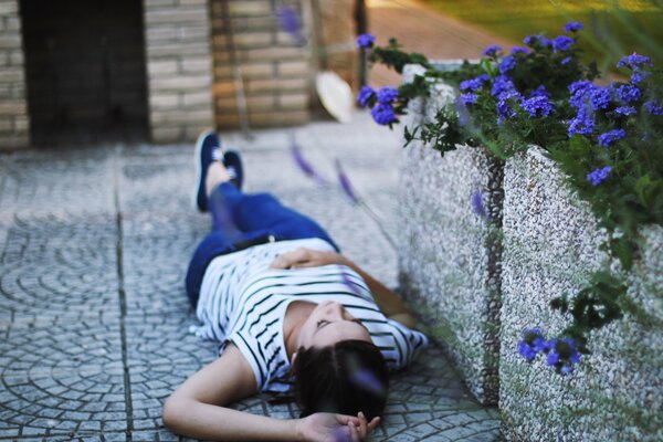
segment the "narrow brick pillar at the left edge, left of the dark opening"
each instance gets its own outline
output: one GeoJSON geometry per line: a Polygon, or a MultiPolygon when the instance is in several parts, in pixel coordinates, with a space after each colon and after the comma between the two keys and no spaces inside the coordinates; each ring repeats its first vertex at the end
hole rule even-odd
{"type": "Polygon", "coordinates": [[[0,0],[0,148],[24,147],[30,123],[18,0],[0,0]]]}

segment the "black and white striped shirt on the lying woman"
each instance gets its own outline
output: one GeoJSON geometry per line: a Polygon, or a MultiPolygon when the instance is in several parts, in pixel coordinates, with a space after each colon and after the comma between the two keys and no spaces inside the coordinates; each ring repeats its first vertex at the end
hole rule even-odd
{"type": "Polygon", "coordinates": [[[406,367],[428,338],[385,317],[365,281],[346,265],[297,270],[269,269],[278,254],[308,248],[333,251],[319,239],[280,241],[215,257],[208,266],[192,332],[221,343],[232,341],[255,375],[259,391],[287,391],[292,385],[284,345],[283,318],[293,301],[336,301],[368,329],[390,369],[406,367]]]}

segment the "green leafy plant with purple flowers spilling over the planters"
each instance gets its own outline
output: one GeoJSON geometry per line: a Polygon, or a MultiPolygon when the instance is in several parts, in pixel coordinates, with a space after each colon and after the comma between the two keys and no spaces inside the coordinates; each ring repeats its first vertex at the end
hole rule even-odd
{"type": "MultiPolygon", "coordinates": [[[[431,123],[406,127],[406,146],[421,140],[444,155],[466,144],[499,159],[540,146],[608,232],[601,250],[628,272],[640,253],[639,227],[663,224],[663,73],[634,53],[618,63],[628,78],[594,83],[596,63],[581,63],[576,48],[581,30],[582,23],[570,22],[564,34],[526,36],[525,46],[508,53],[492,45],[478,64],[464,62],[454,72],[436,71],[423,55],[402,52],[394,40],[385,48],[371,43],[370,61],[398,72],[418,63],[425,73],[398,90],[366,86],[358,103],[371,106],[378,124],[391,126],[409,99],[429,94],[431,83],[442,78],[455,85],[457,98],[438,109],[431,123]]],[[[592,329],[624,312],[646,316],[628,298],[624,278],[608,261],[578,293],[560,294],[551,307],[569,314],[571,323],[550,340],[538,329],[524,333],[520,355],[530,361],[545,352],[557,372],[570,372],[579,352],[590,352],[592,329]]]]}

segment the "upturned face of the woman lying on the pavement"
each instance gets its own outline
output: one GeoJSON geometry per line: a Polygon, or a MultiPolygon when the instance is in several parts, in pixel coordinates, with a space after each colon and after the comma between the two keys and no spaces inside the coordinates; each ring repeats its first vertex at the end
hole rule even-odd
{"type": "Polygon", "coordinates": [[[359,319],[350,315],[341,304],[326,301],[313,309],[302,326],[297,348],[326,347],[347,339],[371,343],[368,330],[359,319]]]}

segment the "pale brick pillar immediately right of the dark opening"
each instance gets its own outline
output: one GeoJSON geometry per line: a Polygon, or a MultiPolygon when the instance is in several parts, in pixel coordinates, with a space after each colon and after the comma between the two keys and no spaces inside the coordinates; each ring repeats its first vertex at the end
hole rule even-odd
{"type": "Polygon", "coordinates": [[[155,143],[213,126],[209,0],[144,0],[149,120],[155,143]]]}

